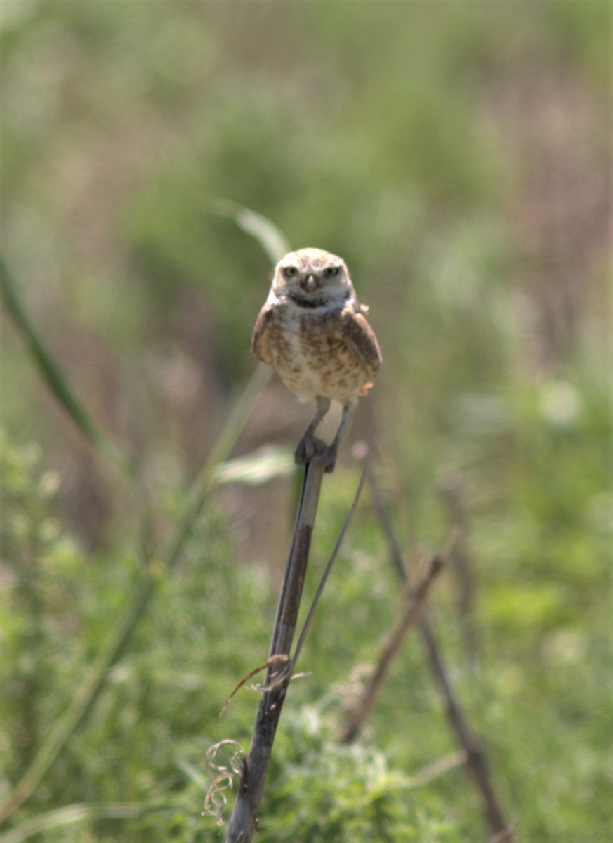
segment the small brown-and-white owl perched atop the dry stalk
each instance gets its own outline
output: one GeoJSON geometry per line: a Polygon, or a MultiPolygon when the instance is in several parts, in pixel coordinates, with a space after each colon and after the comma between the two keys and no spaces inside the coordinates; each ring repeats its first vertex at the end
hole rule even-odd
{"type": "Polygon", "coordinates": [[[322,249],[290,252],[279,261],[269,297],[253,329],[251,349],[302,400],[317,410],[296,448],[296,463],[316,459],[332,471],[338,442],[381,365],[376,336],[358,303],[344,260],[322,249]],[[330,407],[343,405],[338,431],[326,446],[315,438],[330,407]]]}

